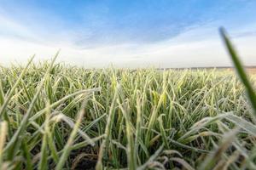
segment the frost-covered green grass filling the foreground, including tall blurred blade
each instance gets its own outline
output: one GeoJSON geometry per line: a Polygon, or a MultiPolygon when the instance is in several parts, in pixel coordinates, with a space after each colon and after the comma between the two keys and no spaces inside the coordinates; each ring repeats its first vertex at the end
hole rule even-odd
{"type": "Polygon", "coordinates": [[[255,94],[221,32],[242,83],[230,71],[87,70],[55,59],[1,67],[0,167],[255,168],[255,94]]]}

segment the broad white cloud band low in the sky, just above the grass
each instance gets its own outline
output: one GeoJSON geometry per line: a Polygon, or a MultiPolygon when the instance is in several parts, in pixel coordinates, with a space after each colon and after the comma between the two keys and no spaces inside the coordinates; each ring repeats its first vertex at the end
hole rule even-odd
{"type": "MultiPolygon", "coordinates": [[[[43,37],[21,26],[14,20],[0,16],[0,64],[10,62],[25,63],[36,54],[37,60],[50,59],[59,48],[59,61],[72,65],[86,67],[102,67],[117,65],[124,67],[198,67],[230,65],[228,54],[218,36],[218,23],[208,26],[198,26],[167,41],[154,43],[135,43],[105,45],[96,48],[81,49],[72,42],[72,37],[66,41],[52,41],[55,37],[43,37]],[[8,31],[11,34],[8,34],[8,31]],[[15,35],[19,36],[10,36],[15,35]],[[41,41],[44,40],[44,41],[41,41]]],[[[256,36],[242,34],[255,31],[256,26],[244,26],[232,30],[236,47],[246,65],[256,65],[256,36]],[[238,36],[237,36],[238,35],[238,36]],[[243,35],[243,36],[239,36],[243,35]]]]}

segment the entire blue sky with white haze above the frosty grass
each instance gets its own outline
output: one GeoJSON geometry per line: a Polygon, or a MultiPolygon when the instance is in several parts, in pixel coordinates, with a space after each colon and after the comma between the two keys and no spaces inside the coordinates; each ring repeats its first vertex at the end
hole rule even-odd
{"type": "Polygon", "coordinates": [[[84,67],[230,66],[224,26],[256,65],[255,0],[0,0],[0,65],[51,59],[84,67]]]}

